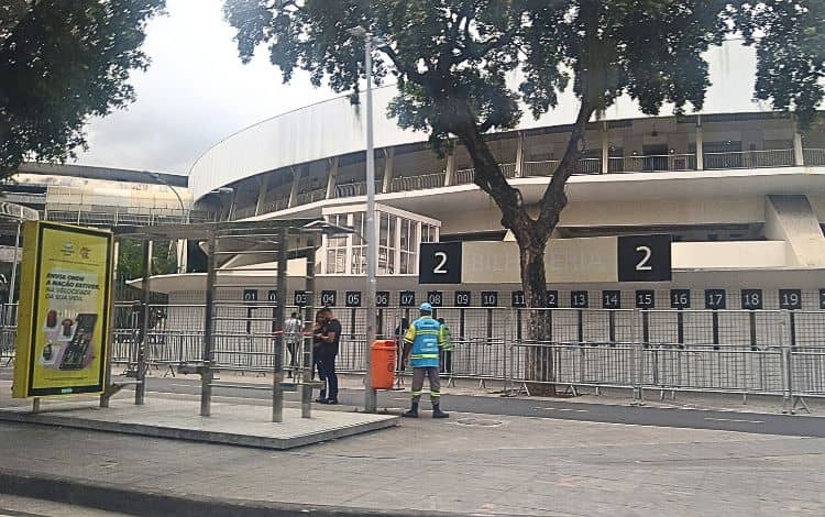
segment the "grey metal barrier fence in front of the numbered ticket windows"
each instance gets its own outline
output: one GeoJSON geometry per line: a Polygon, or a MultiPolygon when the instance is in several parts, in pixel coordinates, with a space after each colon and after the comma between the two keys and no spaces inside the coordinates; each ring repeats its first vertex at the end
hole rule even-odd
{"type": "MultiPolygon", "coordinates": [[[[272,371],[273,309],[266,302],[215,306],[217,369],[272,371]]],[[[124,372],[138,361],[142,310],[131,302],[114,307],[112,361],[124,372]]],[[[366,311],[333,310],[342,326],[338,370],[363,373],[366,311]]],[[[201,362],[204,312],[202,304],[151,305],[148,364],[174,374],[201,362]]],[[[13,361],[15,314],[14,306],[0,312],[0,365],[13,361]]],[[[399,341],[416,316],[410,307],[378,309],[378,338],[399,341]]],[[[453,337],[441,365],[449,381],[497,381],[527,392],[535,385],[624,387],[637,398],[646,389],[825,396],[825,311],[451,307],[435,316],[453,337]],[[543,340],[529,339],[532,324],[543,326],[543,340]]]]}

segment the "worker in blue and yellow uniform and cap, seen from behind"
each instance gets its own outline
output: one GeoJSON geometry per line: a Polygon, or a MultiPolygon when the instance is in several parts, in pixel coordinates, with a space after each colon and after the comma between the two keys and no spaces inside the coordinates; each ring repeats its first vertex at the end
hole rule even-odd
{"type": "Polygon", "coordinates": [[[421,304],[421,317],[409,326],[404,336],[404,364],[413,365],[413,403],[404,416],[418,418],[418,403],[421,399],[424,377],[430,380],[430,402],[432,418],[450,418],[441,410],[441,380],[439,378],[439,356],[444,344],[441,323],[432,318],[432,306],[421,304]]]}

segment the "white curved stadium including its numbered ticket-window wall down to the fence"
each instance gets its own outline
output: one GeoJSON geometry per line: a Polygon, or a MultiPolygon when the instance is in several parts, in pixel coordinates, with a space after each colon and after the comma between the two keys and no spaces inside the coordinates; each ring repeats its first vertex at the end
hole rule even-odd
{"type": "MultiPolygon", "coordinates": [[[[740,355],[692,355],[684,364],[671,356],[680,361],[671,369],[673,378],[704,372],[679,383],[780,393],[779,346],[821,344],[822,314],[802,312],[825,309],[825,131],[800,128],[792,114],[751,100],[752,76],[725,64],[752,55],[728,46],[711,54],[713,86],[701,111],[648,117],[620,99],[587,127],[587,148],[568,184],[570,202],[547,251],[547,306],[558,309],[551,341],[618,348],[641,342],[674,350],[729,345],[740,355]],[[632,238],[639,235],[654,241],[638,244],[632,238]],[[642,251],[631,268],[666,263],[667,275],[627,274],[622,250],[628,242],[652,253],[642,251]],[[772,309],[799,314],[790,318],[790,331],[784,330],[789,320],[772,309]],[[748,355],[759,350],[771,350],[769,363],[748,355]],[[743,370],[757,360],[758,367],[743,370]],[[719,377],[746,371],[747,378],[719,377]]],[[[497,207],[473,184],[465,150],[457,145],[439,157],[426,134],[402,130],[383,116],[394,95],[392,87],[375,91],[378,334],[397,336],[404,320],[417,316],[416,306],[429,301],[463,343],[449,366],[452,373],[524,377],[526,363],[512,361],[526,356],[512,354],[525,321],[516,243],[497,207]],[[424,284],[420,277],[431,279],[447,264],[429,255],[421,260],[422,249],[430,254],[433,244],[444,250],[451,274],[442,283],[424,284]],[[429,271],[419,271],[420,264],[429,271]]],[[[514,130],[490,135],[503,172],[528,206],[538,204],[563,154],[565,124],[576,108],[564,95],[559,109],[538,120],[525,116],[514,130]]],[[[322,218],[354,229],[345,237],[323,237],[314,264],[315,302],[334,307],[344,328],[339,369],[354,372],[363,371],[366,355],[362,116],[359,106],[339,97],[232,134],[195,162],[186,198],[193,210],[224,221],[322,218]]],[[[219,265],[215,361],[271,370],[272,304],[255,304],[272,299],[275,289],[272,251],[260,243],[222,255],[219,265]]],[[[305,258],[289,261],[288,304],[306,301],[306,271],[305,258]]],[[[151,330],[163,344],[150,352],[155,362],[202,356],[206,285],[205,273],[152,277],[151,290],[168,299],[151,330]]],[[[131,361],[133,331],[121,330],[116,361],[131,361]]],[[[576,378],[586,373],[583,358],[569,358],[576,378]]],[[[601,369],[594,384],[641,382],[636,374],[630,378],[630,349],[594,358],[601,369]]],[[[656,361],[649,364],[653,370],[656,361]]],[[[818,384],[809,392],[825,393],[822,371],[811,372],[818,384]]],[[[654,376],[649,384],[661,385],[658,370],[654,376]]]]}

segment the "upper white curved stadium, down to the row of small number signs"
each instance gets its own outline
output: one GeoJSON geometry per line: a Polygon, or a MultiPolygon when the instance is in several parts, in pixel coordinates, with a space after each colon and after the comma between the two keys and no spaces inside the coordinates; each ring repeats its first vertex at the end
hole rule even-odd
{"type": "MultiPolygon", "coordinates": [[[[559,307],[738,309],[749,307],[748,293],[766,309],[825,307],[825,132],[801,131],[791,114],[752,101],[752,77],[719,65],[740,52],[714,51],[714,86],[700,112],[646,117],[623,100],[588,125],[580,174],[569,182],[570,204],[548,248],[548,287],[558,292],[559,307]],[[672,240],[672,278],[619,283],[617,238],[661,233],[672,240]]],[[[473,184],[466,152],[459,145],[440,158],[426,134],[383,117],[394,94],[392,87],[375,92],[384,301],[519,305],[516,244],[497,207],[473,184]],[[419,246],[428,242],[462,243],[460,284],[419,285],[419,246]]],[[[491,136],[502,169],[528,205],[539,201],[563,154],[564,124],[576,106],[564,96],[558,110],[539,120],[525,116],[517,129],[491,136]]],[[[191,194],[224,220],[324,218],[354,228],[350,237],[324,239],[316,264],[318,290],[334,292],[341,306],[346,292],[364,285],[363,128],[359,107],[346,97],[265,120],[198,158],[191,194]],[[208,196],[221,188],[231,195],[208,196]]],[[[266,260],[248,254],[230,263],[266,260]]],[[[298,276],[302,271],[290,266],[298,276]]],[[[173,275],[157,278],[153,288],[196,301],[202,282],[173,275]]],[[[266,284],[264,276],[243,275],[239,299],[242,289],[266,284]]],[[[298,278],[290,287],[296,300],[301,285],[298,278]]],[[[332,301],[331,295],[322,300],[332,301]]]]}

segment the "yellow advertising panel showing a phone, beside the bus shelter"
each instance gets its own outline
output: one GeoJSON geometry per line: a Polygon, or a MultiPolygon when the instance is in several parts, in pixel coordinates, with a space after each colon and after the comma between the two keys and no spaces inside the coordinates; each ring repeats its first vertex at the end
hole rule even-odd
{"type": "Polygon", "coordinates": [[[15,398],[100,393],[108,360],[112,235],[29,221],[14,362],[15,398]]]}

